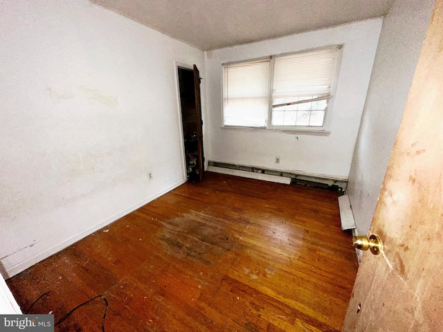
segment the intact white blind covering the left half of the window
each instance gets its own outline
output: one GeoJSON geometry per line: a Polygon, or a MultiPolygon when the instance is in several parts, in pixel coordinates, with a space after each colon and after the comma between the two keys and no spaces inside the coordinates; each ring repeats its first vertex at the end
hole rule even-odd
{"type": "Polygon", "coordinates": [[[225,66],[224,125],[266,127],[269,110],[269,59],[225,66]]]}

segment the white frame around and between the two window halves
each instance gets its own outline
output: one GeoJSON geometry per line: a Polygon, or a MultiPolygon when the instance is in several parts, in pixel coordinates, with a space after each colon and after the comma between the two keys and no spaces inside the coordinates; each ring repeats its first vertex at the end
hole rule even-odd
{"type": "Polygon", "coordinates": [[[338,75],[340,73],[341,60],[343,57],[343,44],[332,44],[327,46],[322,46],[318,48],[309,48],[305,50],[299,50],[297,52],[290,53],[280,53],[278,55],[270,55],[267,57],[257,57],[254,59],[246,59],[235,62],[226,62],[221,64],[221,128],[225,129],[248,129],[248,130],[276,130],[276,131],[284,131],[288,133],[309,133],[312,135],[320,135],[327,136],[330,131],[328,131],[331,122],[332,109],[334,106],[334,100],[336,95],[336,88],[338,83],[338,75]],[[325,116],[323,118],[323,126],[282,126],[282,125],[273,125],[272,124],[272,111],[273,111],[273,74],[274,74],[274,61],[275,58],[278,57],[286,57],[288,55],[296,55],[302,53],[314,52],[316,50],[325,50],[328,48],[336,48],[337,49],[337,59],[336,59],[336,68],[334,71],[334,80],[332,81],[331,86],[331,98],[327,103],[327,107],[325,109],[325,116]],[[232,66],[235,64],[247,64],[249,62],[257,62],[269,59],[269,107],[268,107],[268,117],[266,121],[266,127],[249,127],[249,126],[235,126],[235,125],[225,125],[224,124],[224,68],[225,66],[232,66]]]}

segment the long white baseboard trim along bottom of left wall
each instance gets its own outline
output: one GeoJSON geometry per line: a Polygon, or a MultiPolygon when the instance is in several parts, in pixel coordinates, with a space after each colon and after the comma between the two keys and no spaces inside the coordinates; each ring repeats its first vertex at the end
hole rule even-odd
{"type": "Polygon", "coordinates": [[[4,268],[3,273],[6,273],[6,275],[3,275],[5,279],[14,277],[15,275],[23,272],[27,268],[30,268],[31,266],[39,263],[40,261],[43,261],[44,259],[51,257],[55,253],[71,246],[73,243],[80,241],[81,239],[84,239],[85,237],[91,235],[93,232],[96,232],[97,230],[100,230],[100,228],[104,228],[105,226],[109,225],[110,223],[114,223],[114,221],[117,221],[118,219],[122,218],[123,216],[134,212],[138,208],[141,208],[143,205],[150,203],[151,201],[154,201],[154,199],[159,198],[160,196],[166,194],[167,192],[170,192],[171,190],[174,190],[175,188],[179,187],[180,185],[183,185],[183,183],[186,183],[186,178],[182,179],[181,181],[174,183],[173,185],[170,185],[169,187],[166,187],[165,189],[161,190],[160,192],[157,192],[156,194],[147,197],[146,199],[143,199],[143,201],[140,201],[129,208],[118,212],[117,214],[114,214],[114,216],[111,216],[104,221],[100,221],[100,223],[96,223],[96,225],[91,226],[90,228],[87,228],[86,230],[83,230],[82,232],[75,234],[73,237],[70,237],[69,239],[66,239],[60,243],[57,243],[55,246],[52,246],[51,248],[48,248],[44,250],[43,252],[40,252],[39,254],[30,257],[29,259],[26,259],[25,261],[21,261],[19,264],[16,264],[15,266],[12,266],[10,268],[4,268]]]}

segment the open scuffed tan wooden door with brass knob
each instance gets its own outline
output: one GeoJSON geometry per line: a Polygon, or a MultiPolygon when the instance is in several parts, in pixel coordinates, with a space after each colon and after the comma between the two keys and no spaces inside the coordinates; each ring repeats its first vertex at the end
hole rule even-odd
{"type": "Polygon", "coordinates": [[[435,1],[343,331],[443,331],[443,0],[435,1]]]}

